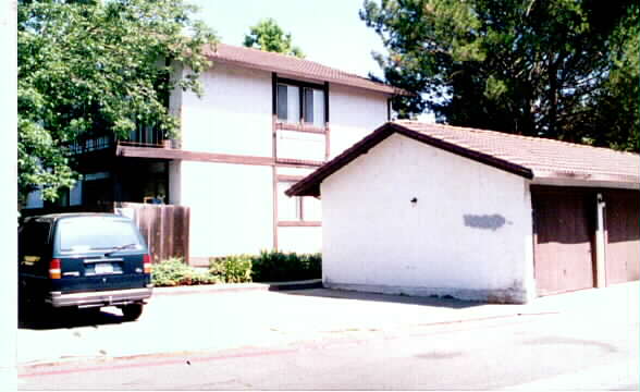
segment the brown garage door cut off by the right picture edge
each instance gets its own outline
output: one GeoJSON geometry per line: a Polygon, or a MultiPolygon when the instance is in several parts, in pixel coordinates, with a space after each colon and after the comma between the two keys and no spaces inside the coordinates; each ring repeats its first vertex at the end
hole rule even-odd
{"type": "Polygon", "coordinates": [[[608,191],[606,201],[606,284],[640,279],[640,192],[608,191]]]}

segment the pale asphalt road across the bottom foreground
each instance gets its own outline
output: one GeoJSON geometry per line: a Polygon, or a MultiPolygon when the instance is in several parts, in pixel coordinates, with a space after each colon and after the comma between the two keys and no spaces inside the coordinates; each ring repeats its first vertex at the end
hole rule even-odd
{"type": "Polygon", "coordinates": [[[24,366],[19,388],[638,390],[638,321],[532,313],[344,329],[272,344],[24,366]]]}

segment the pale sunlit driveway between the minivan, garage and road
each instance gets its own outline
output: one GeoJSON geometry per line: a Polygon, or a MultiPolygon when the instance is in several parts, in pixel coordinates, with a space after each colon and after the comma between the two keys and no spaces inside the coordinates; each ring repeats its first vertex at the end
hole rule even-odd
{"type": "Polygon", "coordinates": [[[330,291],[158,290],[138,321],[122,322],[115,308],[71,321],[26,323],[19,330],[19,364],[85,357],[206,352],[275,346],[367,333],[402,333],[427,324],[565,314],[582,322],[637,322],[638,282],[539,298],[532,305],[484,305],[330,291]]]}

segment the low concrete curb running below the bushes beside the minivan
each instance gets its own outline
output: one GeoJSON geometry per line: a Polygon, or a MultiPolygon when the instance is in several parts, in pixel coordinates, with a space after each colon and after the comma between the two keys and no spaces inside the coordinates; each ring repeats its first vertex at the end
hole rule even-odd
{"type": "Polygon", "coordinates": [[[272,282],[272,283],[220,283],[220,284],[200,284],[190,286],[175,287],[155,287],[153,295],[186,295],[201,293],[225,293],[243,291],[291,291],[322,289],[321,279],[311,279],[293,282],[272,282]]]}

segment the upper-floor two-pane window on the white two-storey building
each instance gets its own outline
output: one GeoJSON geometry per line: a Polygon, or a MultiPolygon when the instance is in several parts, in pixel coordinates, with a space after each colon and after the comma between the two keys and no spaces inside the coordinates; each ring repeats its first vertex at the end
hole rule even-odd
{"type": "Polygon", "coordinates": [[[278,119],[290,124],[324,127],[324,91],[291,84],[278,85],[278,119]]]}

